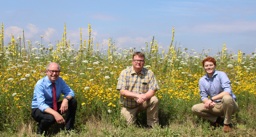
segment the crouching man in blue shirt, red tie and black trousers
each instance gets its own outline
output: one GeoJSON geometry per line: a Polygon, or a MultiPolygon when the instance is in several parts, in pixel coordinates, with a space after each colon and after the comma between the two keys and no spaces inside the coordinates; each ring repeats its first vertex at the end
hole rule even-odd
{"type": "Polygon", "coordinates": [[[55,122],[64,124],[64,128],[68,131],[74,128],[77,107],[76,99],[74,99],[75,93],[59,77],[60,72],[60,65],[51,62],[47,65],[47,75],[35,84],[31,116],[38,122],[37,134],[43,134],[55,122]],[[57,103],[57,106],[53,105],[53,92],[56,92],[55,104],[57,103]],[[58,102],[61,93],[64,99],[58,102]],[[64,113],[66,113],[65,119],[61,116],[64,113]]]}

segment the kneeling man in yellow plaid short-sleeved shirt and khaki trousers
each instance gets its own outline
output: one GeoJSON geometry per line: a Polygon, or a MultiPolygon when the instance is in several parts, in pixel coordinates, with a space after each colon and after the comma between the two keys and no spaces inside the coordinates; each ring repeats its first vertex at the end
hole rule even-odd
{"type": "Polygon", "coordinates": [[[141,52],[133,55],[132,66],[119,75],[116,89],[120,91],[121,114],[127,123],[134,123],[137,111],[147,110],[147,124],[159,124],[158,99],[155,92],[160,89],[151,70],[145,69],[145,56],[141,52]]]}

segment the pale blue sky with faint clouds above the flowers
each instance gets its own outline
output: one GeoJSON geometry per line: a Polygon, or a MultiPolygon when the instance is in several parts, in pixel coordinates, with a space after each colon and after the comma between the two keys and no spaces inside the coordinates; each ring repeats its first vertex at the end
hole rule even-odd
{"type": "MultiPolygon", "coordinates": [[[[64,23],[67,39],[79,43],[88,39],[91,24],[93,44],[108,48],[110,37],[117,48],[145,48],[144,42],[168,50],[175,27],[174,43],[181,48],[212,49],[215,55],[225,42],[230,53],[250,54],[256,50],[255,0],[4,0],[0,22],[4,25],[5,45],[11,34],[41,42],[61,40],[64,23]],[[204,47],[204,48],[203,48],[204,47]]],[[[35,43],[34,43],[35,44],[35,43]]],[[[75,45],[76,46],[76,45],[75,45]]]]}

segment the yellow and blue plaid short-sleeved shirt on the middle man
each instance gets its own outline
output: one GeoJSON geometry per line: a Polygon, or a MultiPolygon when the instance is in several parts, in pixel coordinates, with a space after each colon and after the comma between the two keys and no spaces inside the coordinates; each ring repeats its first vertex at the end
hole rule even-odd
{"type": "MultiPolygon", "coordinates": [[[[134,71],[133,66],[128,67],[119,75],[117,90],[127,89],[131,92],[142,94],[148,92],[148,90],[157,91],[159,88],[154,73],[151,70],[145,69],[137,74],[134,71]]],[[[124,107],[135,108],[139,104],[137,103],[138,98],[125,98],[120,95],[120,103],[124,107]]]]}

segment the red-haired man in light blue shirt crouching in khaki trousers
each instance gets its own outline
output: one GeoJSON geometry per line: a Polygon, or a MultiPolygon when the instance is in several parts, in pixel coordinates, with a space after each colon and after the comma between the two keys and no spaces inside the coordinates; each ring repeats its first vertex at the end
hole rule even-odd
{"type": "Polygon", "coordinates": [[[203,103],[194,105],[192,112],[206,118],[215,127],[224,123],[223,131],[229,132],[231,130],[231,115],[239,108],[238,103],[236,103],[236,96],[230,87],[231,82],[226,73],[215,70],[216,61],[214,58],[207,57],[202,64],[207,73],[199,79],[199,90],[203,103]],[[220,116],[224,116],[224,120],[220,116]]]}

